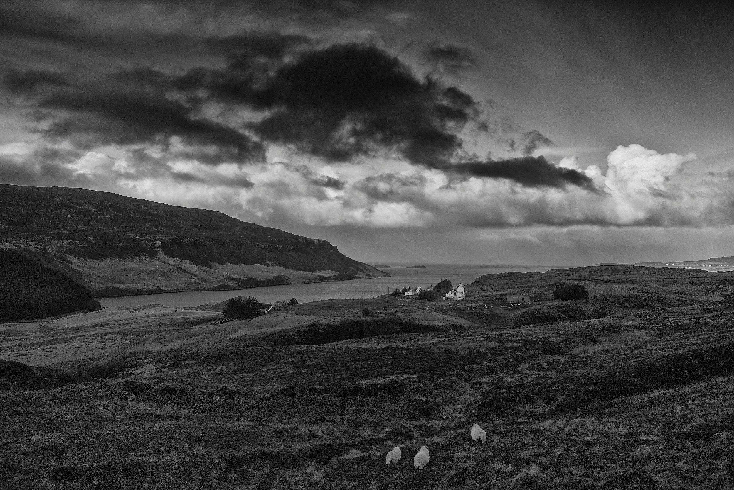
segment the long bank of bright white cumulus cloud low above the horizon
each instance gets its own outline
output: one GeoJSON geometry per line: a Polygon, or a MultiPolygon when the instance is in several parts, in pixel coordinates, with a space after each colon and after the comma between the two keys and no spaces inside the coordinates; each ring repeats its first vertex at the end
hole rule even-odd
{"type": "MultiPolygon", "coordinates": [[[[4,181],[84,186],[192,207],[214,208],[241,219],[337,227],[432,227],[456,224],[504,228],[706,227],[734,223],[732,176],[712,172],[694,154],[661,154],[619,146],[606,171],[581,168],[575,157],[559,167],[582,172],[596,191],[577,186],[527,187],[502,178],[457,177],[408,167],[378,172],[354,165],[275,161],[203,164],[112,158],[98,151],[7,147],[4,181]],[[10,150],[10,151],[9,151],[10,150]]],[[[727,162],[715,162],[719,170],[727,162]]],[[[708,165],[708,167],[707,167],[708,165]]]]}

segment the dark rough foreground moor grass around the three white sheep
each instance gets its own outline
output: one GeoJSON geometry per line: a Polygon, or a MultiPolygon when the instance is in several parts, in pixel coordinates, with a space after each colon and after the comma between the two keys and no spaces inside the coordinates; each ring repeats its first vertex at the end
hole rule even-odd
{"type": "Polygon", "coordinates": [[[734,305],[714,304],[151,351],[106,379],[0,391],[0,486],[727,489],[734,448],[712,436],[734,434],[730,318],[734,305]]]}

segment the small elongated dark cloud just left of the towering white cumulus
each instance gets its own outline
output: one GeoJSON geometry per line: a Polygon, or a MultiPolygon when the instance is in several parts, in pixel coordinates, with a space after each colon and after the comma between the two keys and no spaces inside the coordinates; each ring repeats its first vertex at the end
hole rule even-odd
{"type": "Polygon", "coordinates": [[[556,167],[542,156],[525,156],[502,161],[472,161],[443,167],[447,172],[484,178],[514,180],[526,187],[564,187],[573,185],[594,191],[594,183],[585,174],[556,167]]]}

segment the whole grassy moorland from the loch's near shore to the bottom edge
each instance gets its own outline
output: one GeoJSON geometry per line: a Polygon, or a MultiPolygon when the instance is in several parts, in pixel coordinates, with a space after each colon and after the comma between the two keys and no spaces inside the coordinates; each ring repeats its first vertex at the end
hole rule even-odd
{"type": "Polygon", "coordinates": [[[316,301],[227,323],[218,305],[149,305],[0,324],[0,486],[734,486],[730,275],[643,271],[641,285],[575,271],[558,280],[606,293],[507,310],[501,292],[550,282],[484,277],[461,303],[316,301]]]}

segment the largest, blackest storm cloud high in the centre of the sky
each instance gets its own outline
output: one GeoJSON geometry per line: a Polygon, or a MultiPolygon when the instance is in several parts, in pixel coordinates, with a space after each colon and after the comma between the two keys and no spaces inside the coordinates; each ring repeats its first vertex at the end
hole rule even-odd
{"type": "MultiPolygon", "coordinates": [[[[251,46],[247,40],[244,53],[251,46]]],[[[280,46],[269,54],[282,53],[280,46]]],[[[239,59],[236,43],[229,48],[229,59],[239,59]]],[[[462,149],[458,131],[479,115],[470,95],[434,78],[416,78],[374,45],[330,45],[306,49],[292,60],[267,59],[270,67],[275,62],[272,72],[238,61],[189,76],[206,80],[213,99],[266,111],[250,125],[261,139],[328,161],[387,150],[414,164],[446,161],[462,149]]]]}

